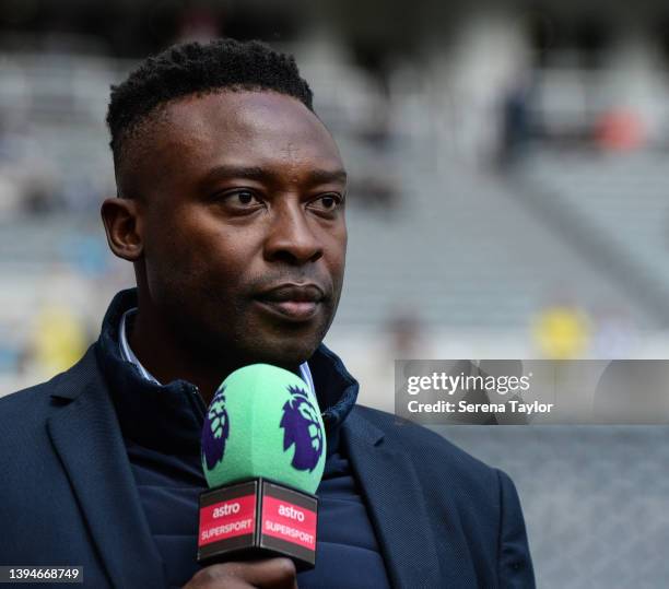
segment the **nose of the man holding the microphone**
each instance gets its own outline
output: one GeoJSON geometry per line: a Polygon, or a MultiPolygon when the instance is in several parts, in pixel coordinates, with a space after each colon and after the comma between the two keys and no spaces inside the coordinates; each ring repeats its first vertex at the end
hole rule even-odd
{"type": "Polygon", "coordinates": [[[292,200],[275,208],[265,243],[268,261],[302,266],[322,257],[322,244],[309,226],[307,214],[298,202],[292,200]]]}

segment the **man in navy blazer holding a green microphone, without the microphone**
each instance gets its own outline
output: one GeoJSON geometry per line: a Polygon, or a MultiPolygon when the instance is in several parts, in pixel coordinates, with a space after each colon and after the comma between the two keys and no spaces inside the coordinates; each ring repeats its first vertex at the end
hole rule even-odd
{"type": "Polygon", "coordinates": [[[0,401],[0,559],[80,565],[91,587],[533,586],[510,480],[354,405],[321,344],[341,293],[345,172],[294,60],[176,46],[111,93],[118,198],[102,215],[137,290],[84,357],[0,401]],[[265,362],[313,384],[328,457],[317,566],[196,564],[206,407],[265,362]]]}

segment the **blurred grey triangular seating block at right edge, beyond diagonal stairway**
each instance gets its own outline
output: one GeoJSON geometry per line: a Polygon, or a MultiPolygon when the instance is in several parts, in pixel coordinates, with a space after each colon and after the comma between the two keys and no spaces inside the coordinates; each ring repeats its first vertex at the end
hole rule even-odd
{"type": "Polygon", "coordinates": [[[669,326],[669,179],[666,156],[539,151],[515,192],[547,226],[669,326]]]}

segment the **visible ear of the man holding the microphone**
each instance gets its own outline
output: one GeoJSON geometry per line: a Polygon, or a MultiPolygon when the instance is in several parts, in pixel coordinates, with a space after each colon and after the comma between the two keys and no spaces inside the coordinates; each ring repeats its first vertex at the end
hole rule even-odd
{"type": "Polygon", "coordinates": [[[140,203],[136,199],[110,198],[99,212],[114,255],[131,262],[140,259],[144,249],[140,203]]]}

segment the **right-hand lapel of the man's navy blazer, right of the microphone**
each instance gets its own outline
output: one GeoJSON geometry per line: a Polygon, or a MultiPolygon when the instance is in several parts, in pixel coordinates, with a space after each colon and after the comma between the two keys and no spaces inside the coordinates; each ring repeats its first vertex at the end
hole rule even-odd
{"type": "Polygon", "coordinates": [[[395,588],[444,586],[421,483],[411,458],[355,410],[343,424],[349,460],[395,588]]]}

